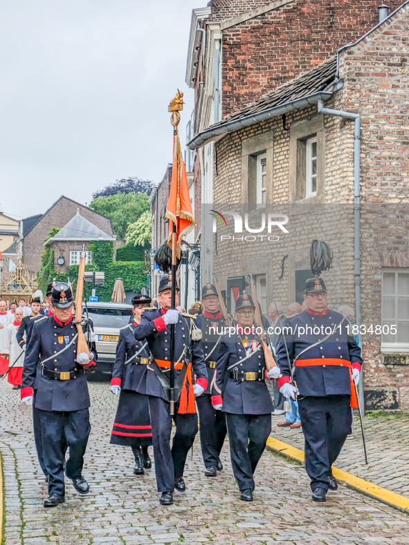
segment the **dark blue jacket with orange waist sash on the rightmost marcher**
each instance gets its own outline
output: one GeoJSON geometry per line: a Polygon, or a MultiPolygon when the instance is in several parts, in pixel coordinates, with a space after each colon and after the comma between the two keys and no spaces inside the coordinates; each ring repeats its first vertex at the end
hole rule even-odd
{"type": "MultiPolygon", "coordinates": [[[[349,321],[346,318],[343,321],[343,318],[343,314],[334,310],[328,310],[324,316],[304,310],[284,324],[284,327],[289,328],[287,331],[284,330],[284,335],[291,366],[295,359],[322,360],[322,365],[295,366],[294,379],[300,395],[324,397],[325,395],[351,394],[351,380],[347,366],[325,365],[327,358],[337,359],[340,364],[345,360],[351,361],[353,367],[361,370],[361,349],[354,341],[354,337],[348,334],[349,321]],[[325,333],[326,328],[327,333],[325,333]],[[327,340],[320,342],[329,332],[333,333],[327,340]],[[315,343],[316,346],[313,346],[315,343]]],[[[281,339],[276,347],[276,361],[283,375],[281,379],[278,379],[278,386],[281,388],[284,382],[289,382],[291,375],[284,339],[281,339]]]]}

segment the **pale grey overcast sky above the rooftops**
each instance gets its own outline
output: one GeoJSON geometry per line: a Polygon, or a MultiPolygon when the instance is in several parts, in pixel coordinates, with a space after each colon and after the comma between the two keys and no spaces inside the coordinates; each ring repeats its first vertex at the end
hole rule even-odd
{"type": "Polygon", "coordinates": [[[1,0],[0,211],[82,203],[122,177],[161,181],[167,105],[185,93],[190,18],[207,0],[1,0]]]}

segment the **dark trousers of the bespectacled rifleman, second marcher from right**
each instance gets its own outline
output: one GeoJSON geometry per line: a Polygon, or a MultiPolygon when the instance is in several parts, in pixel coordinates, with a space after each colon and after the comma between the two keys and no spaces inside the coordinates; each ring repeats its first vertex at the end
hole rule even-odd
{"type": "Polygon", "coordinates": [[[254,490],[253,474],[271,434],[271,413],[226,413],[230,458],[239,490],[254,490]]]}

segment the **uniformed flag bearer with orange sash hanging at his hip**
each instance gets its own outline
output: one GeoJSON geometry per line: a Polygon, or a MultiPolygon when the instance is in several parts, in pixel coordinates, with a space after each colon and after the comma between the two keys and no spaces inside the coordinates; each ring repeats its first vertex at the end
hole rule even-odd
{"type": "MultiPolygon", "coordinates": [[[[152,440],[158,492],[162,492],[160,503],[173,503],[174,488],[185,491],[183,470],[186,456],[197,434],[197,413],[194,397],[201,395],[208,386],[208,373],[200,343],[200,332],[194,320],[180,315],[171,308],[172,281],[169,276],[161,278],[158,303],[160,309],[145,310],[140,324],[135,329],[137,341],[147,340],[152,353],[137,391],[149,396],[149,411],[152,422],[152,440]],[[176,434],[170,449],[172,417],[169,414],[170,376],[170,324],[175,324],[174,369],[175,387],[180,391],[173,417],[176,434]],[[192,376],[196,375],[196,384],[192,376]]],[[[179,303],[179,288],[176,306],[179,303]]]]}

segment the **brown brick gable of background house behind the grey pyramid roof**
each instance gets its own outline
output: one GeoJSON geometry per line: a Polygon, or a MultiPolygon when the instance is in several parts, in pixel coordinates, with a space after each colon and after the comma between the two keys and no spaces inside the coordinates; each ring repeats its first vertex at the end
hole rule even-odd
{"type": "Polygon", "coordinates": [[[23,240],[23,263],[26,270],[34,273],[38,271],[42,264],[44,239],[53,227],[62,229],[75,216],[77,208],[80,208],[80,214],[89,222],[102,229],[107,235],[113,236],[111,220],[108,217],[100,215],[78,202],[62,197],[23,240]]]}

